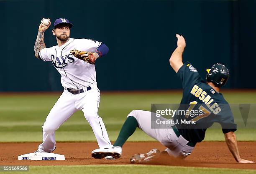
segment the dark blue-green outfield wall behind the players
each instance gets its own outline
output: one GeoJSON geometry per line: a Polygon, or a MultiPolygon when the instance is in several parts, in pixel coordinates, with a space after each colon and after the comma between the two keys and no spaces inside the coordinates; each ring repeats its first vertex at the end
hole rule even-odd
{"type": "MultiPolygon", "coordinates": [[[[231,74],[227,88],[256,88],[251,80],[256,64],[255,8],[256,2],[247,0],[0,1],[0,91],[62,90],[52,63],[34,57],[43,17],[52,22],[66,17],[74,24],[71,37],[108,45],[110,52],[96,63],[101,90],[181,88],[169,66],[176,33],[187,40],[184,60],[200,75],[222,62],[231,74]]],[[[45,42],[47,47],[56,45],[51,30],[46,31],[45,42]]]]}

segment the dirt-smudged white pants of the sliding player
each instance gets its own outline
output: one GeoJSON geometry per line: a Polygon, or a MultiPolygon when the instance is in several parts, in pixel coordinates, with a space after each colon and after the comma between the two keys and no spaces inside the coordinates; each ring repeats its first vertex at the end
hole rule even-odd
{"type": "MultiPolygon", "coordinates": [[[[183,152],[191,153],[194,147],[187,145],[188,141],[184,139],[181,135],[177,137],[174,130],[171,128],[173,125],[167,125],[165,128],[151,128],[151,112],[143,110],[133,110],[127,117],[134,117],[139,128],[148,134],[150,137],[156,139],[165,147],[169,155],[174,157],[183,157],[183,152]]],[[[161,120],[164,120],[162,118],[161,120]]],[[[167,119],[166,119],[167,120],[167,119]]],[[[163,125],[162,125],[163,126],[163,125]]]]}

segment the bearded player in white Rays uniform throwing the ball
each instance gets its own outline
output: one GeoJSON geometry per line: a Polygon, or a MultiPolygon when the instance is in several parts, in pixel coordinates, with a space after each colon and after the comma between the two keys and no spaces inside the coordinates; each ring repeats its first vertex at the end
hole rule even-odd
{"type": "Polygon", "coordinates": [[[70,28],[73,25],[69,20],[60,18],[56,19],[52,30],[58,45],[46,48],[44,32],[50,25],[50,20],[47,26],[43,22],[39,25],[34,47],[35,56],[45,62],[52,62],[61,74],[61,85],[64,91],[44,122],[43,143],[39,145],[37,152],[54,151],[56,148],[55,130],[77,110],[83,111],[99,147],[112,147],[105,125],[98,115],[100,90],[97,88],[95,65],[77,59],[70,53],[73,49],[93,52],[91,56],[96,60],[108,53],[108,47],[95,40],[70,38],[70,28]]]}

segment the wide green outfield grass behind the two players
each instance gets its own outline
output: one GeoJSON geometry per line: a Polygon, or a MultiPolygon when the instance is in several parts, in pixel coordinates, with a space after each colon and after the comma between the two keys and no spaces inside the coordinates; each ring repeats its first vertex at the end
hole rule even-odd
{"type": "MultiPolygon", "coordinates": [[[[123,122],[134,109],[150,110],[151,103],[179,103],[181,92],[106,93],[101,96],[99,115],[111,141],[115,141],[123,122]]],[[[59,94],[0,96],[0,142],[41,142],[42,124],[59,94]]],[[[227,92],[230,103],[256,103],[256,92],[227,92]]],[[[256,141],[256,129],[238,129],[238,140],[256,141]]],[[[56,131],[57,141],[96,141],[81,111],[76,112],[56,131]]],[[[152,141],[138,129],[129,141],[152,141]]],[[[205,140],[223,141],[221,129],[208,129],[205,140]]]]}

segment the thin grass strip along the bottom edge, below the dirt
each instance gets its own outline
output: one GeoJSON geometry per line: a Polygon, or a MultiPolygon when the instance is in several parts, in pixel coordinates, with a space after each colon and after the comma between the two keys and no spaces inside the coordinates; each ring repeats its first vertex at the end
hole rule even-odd
{"type": "MultiPolygon", "coordinates": [[[[10,172],[1,172],[10,174],[10,172]]],[[[248,169],[216,169],[202,167],[172,167],[152,165],[81,165],[81,166],[30,166],[29,172],[19,174],[255,174],[248,169]]]]}

